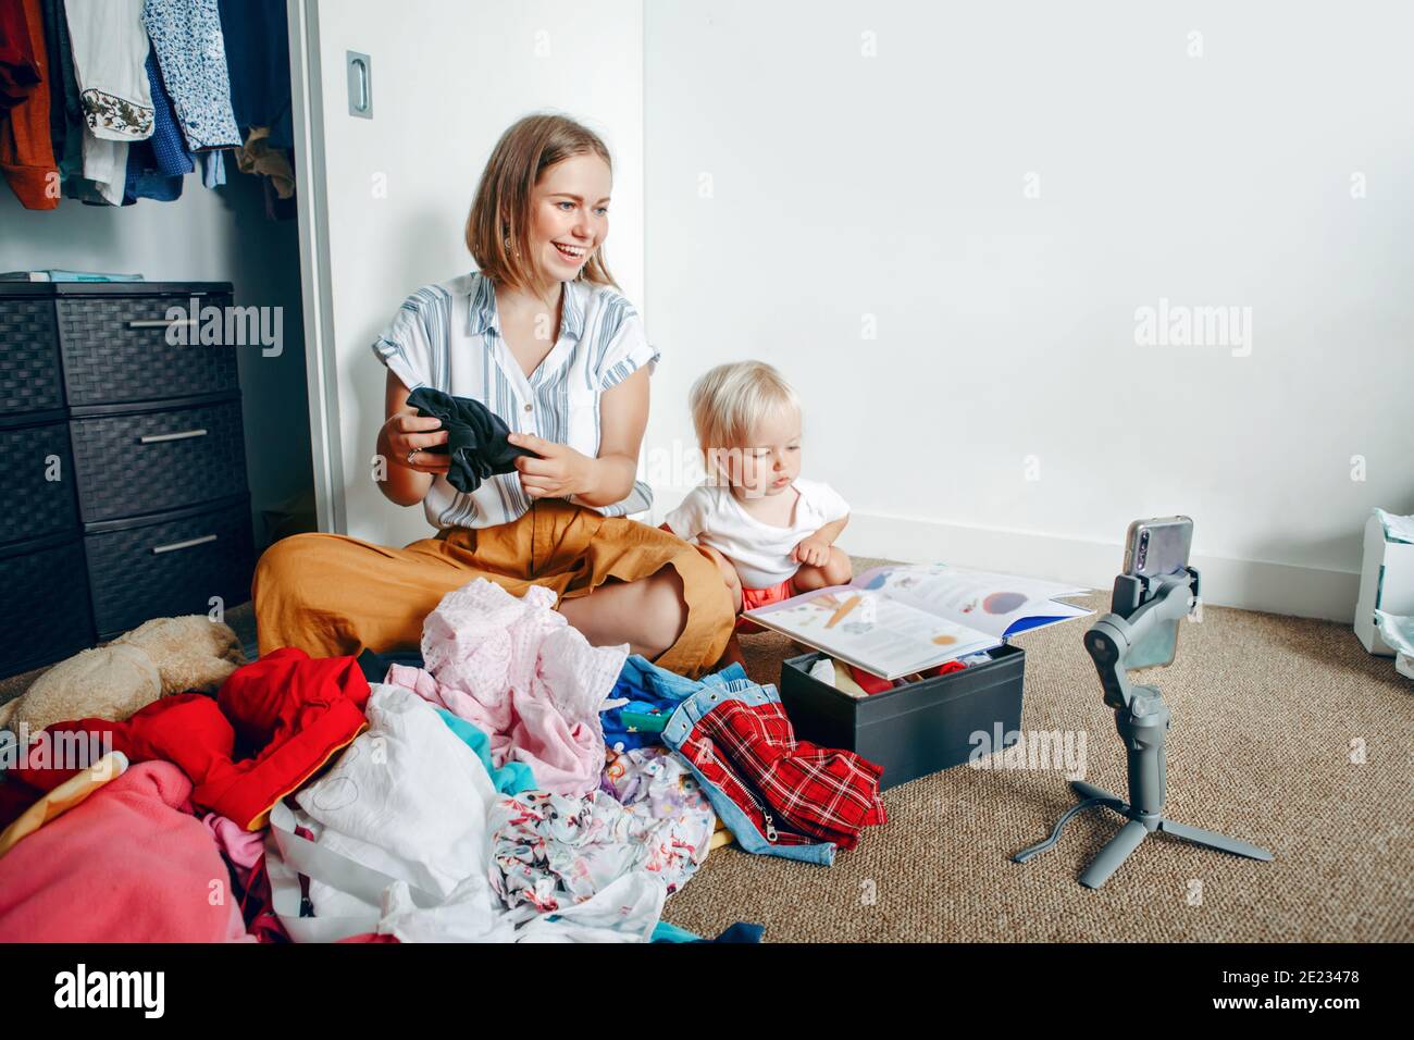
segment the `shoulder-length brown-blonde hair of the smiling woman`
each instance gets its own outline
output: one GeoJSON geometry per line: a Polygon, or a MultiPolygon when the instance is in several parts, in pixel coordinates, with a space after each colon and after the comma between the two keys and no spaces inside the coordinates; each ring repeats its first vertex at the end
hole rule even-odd
{"type": "MultiPolygon", "coordinates": [[[[567,116],[526,116],[501,134],[467,215],[467,249],[482,275],[512,289],[533,284],[534,269],[527,260],[530,250],[526,245],[530,191],[556,163],[585,154],[598,156],[608,164],[609,173],[614,171],[604,140],[567,116]]],[[[602,245],[584,262],[580,277],[618,289],[604,262],[602,245]]]]}

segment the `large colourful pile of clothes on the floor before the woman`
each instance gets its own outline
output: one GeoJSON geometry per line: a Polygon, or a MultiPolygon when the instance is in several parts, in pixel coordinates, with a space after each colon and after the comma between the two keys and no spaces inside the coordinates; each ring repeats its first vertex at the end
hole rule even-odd
{"type": "Polygon", "coordinates": [[[0,785],[0,942],[690,941],[660,915],[710,849],[830,863],[885,822],[773,686],[592,647],[546,589],[477,579],[420,651],[45,726],[0,785]]]}

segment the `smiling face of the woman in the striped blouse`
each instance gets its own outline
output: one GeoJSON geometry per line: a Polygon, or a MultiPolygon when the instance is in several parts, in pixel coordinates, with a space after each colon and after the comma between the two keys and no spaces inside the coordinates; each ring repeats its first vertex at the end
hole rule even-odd
{"type": "Polygon", "coordinates": [[[556,163],[530,194],[530,255],[549,282],[570,282],[609,233],[608,163],[587,153],[556,163]]]}

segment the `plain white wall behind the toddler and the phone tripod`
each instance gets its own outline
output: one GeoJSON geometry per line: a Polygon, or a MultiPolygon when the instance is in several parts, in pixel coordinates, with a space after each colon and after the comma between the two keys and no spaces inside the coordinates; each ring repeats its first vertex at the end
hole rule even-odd
{"type": "Polygon", "coordinates": [[[1186,512],[1210,603],[1348,618],[1370,507],[1414,512],[1410,38],[1397,3],[648,4],[652,444],[762,358],[853,552],[1107,587],[1186,512]],[[1161,297],[1250,307],[1250,354],[1137,345],[1161,297]]]}

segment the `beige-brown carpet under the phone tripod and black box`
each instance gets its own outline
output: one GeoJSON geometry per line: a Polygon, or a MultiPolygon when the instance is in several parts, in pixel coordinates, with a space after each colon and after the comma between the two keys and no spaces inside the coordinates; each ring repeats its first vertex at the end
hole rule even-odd
{"type": "MultiPolygon", "coordinates": [[[[1086,624],[1017,640],[1022,730],[1085,730],[1086,778],[1123,795],[1086,624]]],[[[776,682],[793,652],[775,635],[741,645],[758,682],[776,682]]],[[[1414,683],[1390,659],[1369,657],[1348,625],[1208,607],[1182,625],[1174,666],[1144,681],[1174,712],[1168,815],[1264,845],[1275,862],[1159,835],[1090,891],[1075,879],[1116,832],[1114,814],[1090,809],[1058,848],[1011,863],[1073,804],[1065,778],[959,765],[888,791],[889,822],[831,867],[714,852],[665,920],[711,935],[758,921],[776,942],[1414,940],[1414,683]]]]}

